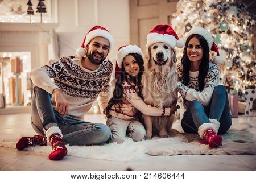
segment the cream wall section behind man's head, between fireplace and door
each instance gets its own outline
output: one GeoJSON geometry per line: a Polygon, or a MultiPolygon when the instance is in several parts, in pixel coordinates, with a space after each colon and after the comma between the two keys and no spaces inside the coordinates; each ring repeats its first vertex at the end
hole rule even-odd
{"type": "Polygon", "coordinates": [[[117,49],[130,43],[129,0],[58,0],[59,56],[75,55],[88,30],[104,26],[114,37],[114,47],[109,59],[114,59],[117,49]]]}

